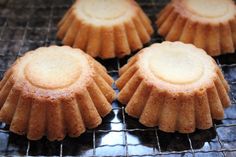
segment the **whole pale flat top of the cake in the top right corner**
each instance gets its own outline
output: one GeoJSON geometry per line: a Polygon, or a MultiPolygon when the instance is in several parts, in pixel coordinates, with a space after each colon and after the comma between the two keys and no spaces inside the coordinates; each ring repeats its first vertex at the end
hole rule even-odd
{"type": "Polygon", "coordinates": [[[173,0],[173,2],[178,12],[192,20],[218,23],[232,19],[236,15],[236,6],[232,0],[173,0]]]}

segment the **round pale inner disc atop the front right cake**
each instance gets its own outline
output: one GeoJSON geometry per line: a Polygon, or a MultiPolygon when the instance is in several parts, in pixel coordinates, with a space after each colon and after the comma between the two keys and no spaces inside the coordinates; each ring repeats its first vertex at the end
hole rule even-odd
{"type": "Polygon", "coordinates": [[[150,69],[156,77],[169,83],[193,83],[201,78],[203,65],[191,53],[194,52],[183,48],[159,48],[150,56],[150,69]]]}

